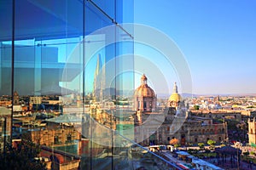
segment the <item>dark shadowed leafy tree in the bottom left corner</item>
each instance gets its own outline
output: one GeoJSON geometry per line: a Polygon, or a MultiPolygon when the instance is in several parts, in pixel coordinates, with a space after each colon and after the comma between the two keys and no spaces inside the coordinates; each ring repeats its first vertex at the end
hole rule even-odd
{"type": "Polygon", "coordinates": [[[32,139],[24,136],[17,146],[9,140],[5,144],[5,152],[0,155],[0,169],[46,169],[42,161],[36,160],[40,146],[33,144],[32,139]]]}

